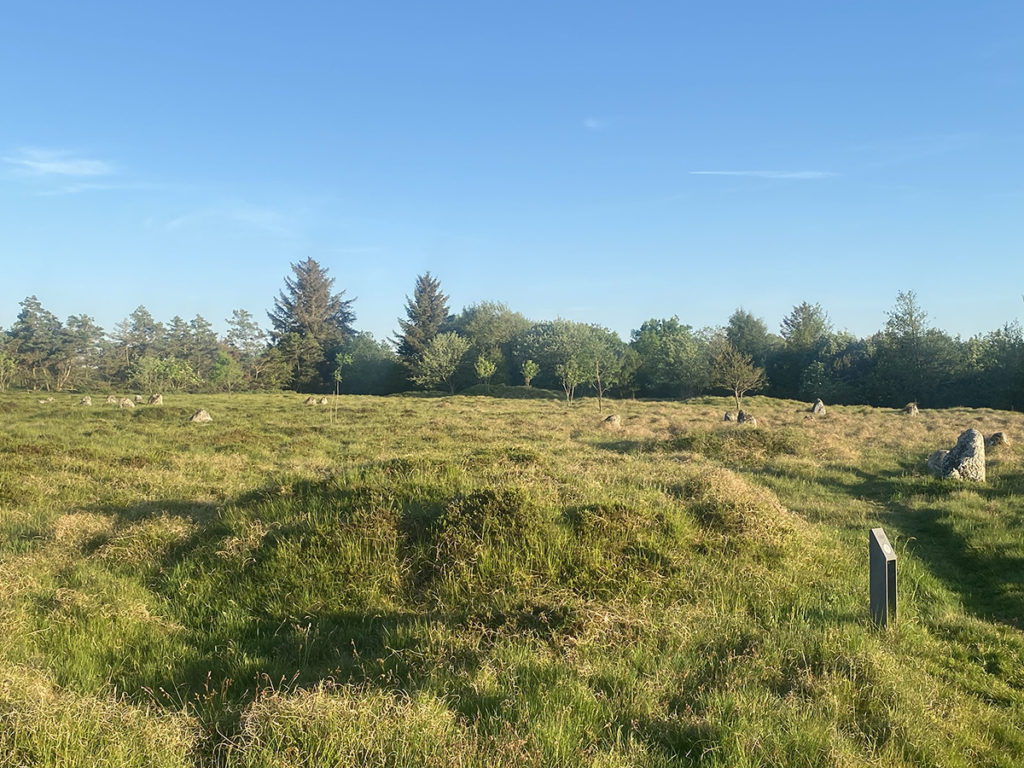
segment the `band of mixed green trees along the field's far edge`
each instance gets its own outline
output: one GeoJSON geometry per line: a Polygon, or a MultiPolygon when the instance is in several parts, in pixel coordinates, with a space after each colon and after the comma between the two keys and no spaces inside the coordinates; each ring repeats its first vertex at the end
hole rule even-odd
{"type": "Polygon", "coordinates": [[[137,307],[111,332],[86,314],[61,323],[35,296],[0,329],[0,391],[101,388],[140,392],[255,391],[389,394],[409,389],[550,389],[676,398],[745,392],[834,403],[1024,408],[1024,332],[1011,323],[968,339],[928,323],[901,292],[880,331],[836,331],[801,303],[777,332],[742,308],[717,328],[650,318],[623,341],[596,324],[534,322],[500,302],[454,313],[440,282],[417,278],[393,339],[355,328],[354,300],[313,259],[292,265],[267,327],[245,309],[218,335],[202,315],[156,321],[137,307]]]}

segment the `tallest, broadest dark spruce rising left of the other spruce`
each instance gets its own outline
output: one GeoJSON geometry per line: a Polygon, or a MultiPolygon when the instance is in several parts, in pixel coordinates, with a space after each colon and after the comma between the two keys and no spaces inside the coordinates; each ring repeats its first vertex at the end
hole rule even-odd
{"type": "Polygon", "coordinates": [[[285,290],[267,312],[270,336],[292,362],[292,386],[299,390],[330,388],[330,360],[354,333],[354,299],[332,293],[334,278],[314,259],[292,264],[294,278],[285,278],[285,290]]]}

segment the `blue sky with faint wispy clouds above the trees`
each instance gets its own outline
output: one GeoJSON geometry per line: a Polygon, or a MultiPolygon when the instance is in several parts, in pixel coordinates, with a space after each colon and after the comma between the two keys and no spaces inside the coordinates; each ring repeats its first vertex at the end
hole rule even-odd
{"type": "Polygon", "coordinates": [[[453,309],[1024,317],[1024,3],[5,2],[0,326],[453,309]]]}

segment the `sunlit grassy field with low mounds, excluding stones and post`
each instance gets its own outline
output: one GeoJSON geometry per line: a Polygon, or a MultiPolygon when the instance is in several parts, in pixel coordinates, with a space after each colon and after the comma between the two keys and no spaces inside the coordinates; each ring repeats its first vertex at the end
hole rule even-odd
{"type": "Polygon", "coordinates": [[[0,395],[0,765],[1024,763],[1022,415],[39,399],[0,395]],[[931,478],[968,427],[988,482],[931,478]]]}

